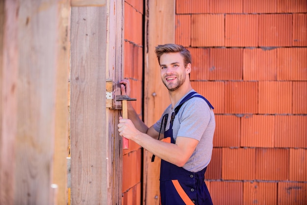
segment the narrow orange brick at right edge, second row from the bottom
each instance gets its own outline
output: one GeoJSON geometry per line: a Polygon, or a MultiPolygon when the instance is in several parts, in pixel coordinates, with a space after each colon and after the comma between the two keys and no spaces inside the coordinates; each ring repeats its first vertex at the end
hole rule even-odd
{"type": "Polygon", "coordinates": [[[307,181],[307,150],[290,149],[290,172],[291,181],[307,181]]]}

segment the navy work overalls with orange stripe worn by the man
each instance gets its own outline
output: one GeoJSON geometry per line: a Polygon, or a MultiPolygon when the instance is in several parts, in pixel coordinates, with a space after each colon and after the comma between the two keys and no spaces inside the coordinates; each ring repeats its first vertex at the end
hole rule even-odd
{"type": "MultiPolygon", "coordinates": [[[[175,144],[173,138],[173,121],[181,105],[189,99],[193,97],[202,98],[212,109],[214,109],[203,96],[194,94],[197,93],[189,93],[175,108],[175,112],[173,112],[171,116],[170,128],[164,132],[163,141],[170,141],[175,144]]],[[[167,122],[167,116],[164,117],[167,122]]],[[[163,119],[161,126],[163,124],[163,119]]],[[[164,127],[166,127],[166,123],[164,123],[164,127]]],[[[206,168],[207,167],[194,173],[161,160],[160,205],[212,205],[211,197],[204,181],[206,168]]]]}

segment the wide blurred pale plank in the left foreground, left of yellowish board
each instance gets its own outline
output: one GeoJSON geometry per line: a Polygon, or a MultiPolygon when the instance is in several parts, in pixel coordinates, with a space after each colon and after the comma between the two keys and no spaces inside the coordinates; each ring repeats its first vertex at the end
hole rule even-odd
{"type": "Polygon", "coordinates": [[[19,0],[13,11],[19,45],[14,204],[53,200],[57,6],[57,0],[19,0]]]}

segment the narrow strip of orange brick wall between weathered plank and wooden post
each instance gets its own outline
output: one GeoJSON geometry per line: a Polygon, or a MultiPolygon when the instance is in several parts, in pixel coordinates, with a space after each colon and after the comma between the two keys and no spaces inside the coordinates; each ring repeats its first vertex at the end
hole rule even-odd
{"type": "MultiPolygon", "coordinates": [[[[125,0],[124,77],[131,83],[132,104],[142,117],[143,90],[143,0],[125,0]]],[[[142,198],[142,149],[129,141],[123,151],[122,205],[141,205],[142,198]]]]}

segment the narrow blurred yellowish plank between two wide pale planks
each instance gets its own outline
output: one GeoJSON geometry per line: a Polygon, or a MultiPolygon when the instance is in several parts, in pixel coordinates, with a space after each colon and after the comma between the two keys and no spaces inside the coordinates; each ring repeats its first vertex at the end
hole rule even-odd
{"type": "Polygon", "coordinates": [[[53,182],[57,185],[57,205],[67,204],[67,159],[68,156],[68,80],[70,67],[70,0],[58,4],[59,22],[57,44],[57,71],[55,96],[55,139],[53,156],[53,182]]]}

